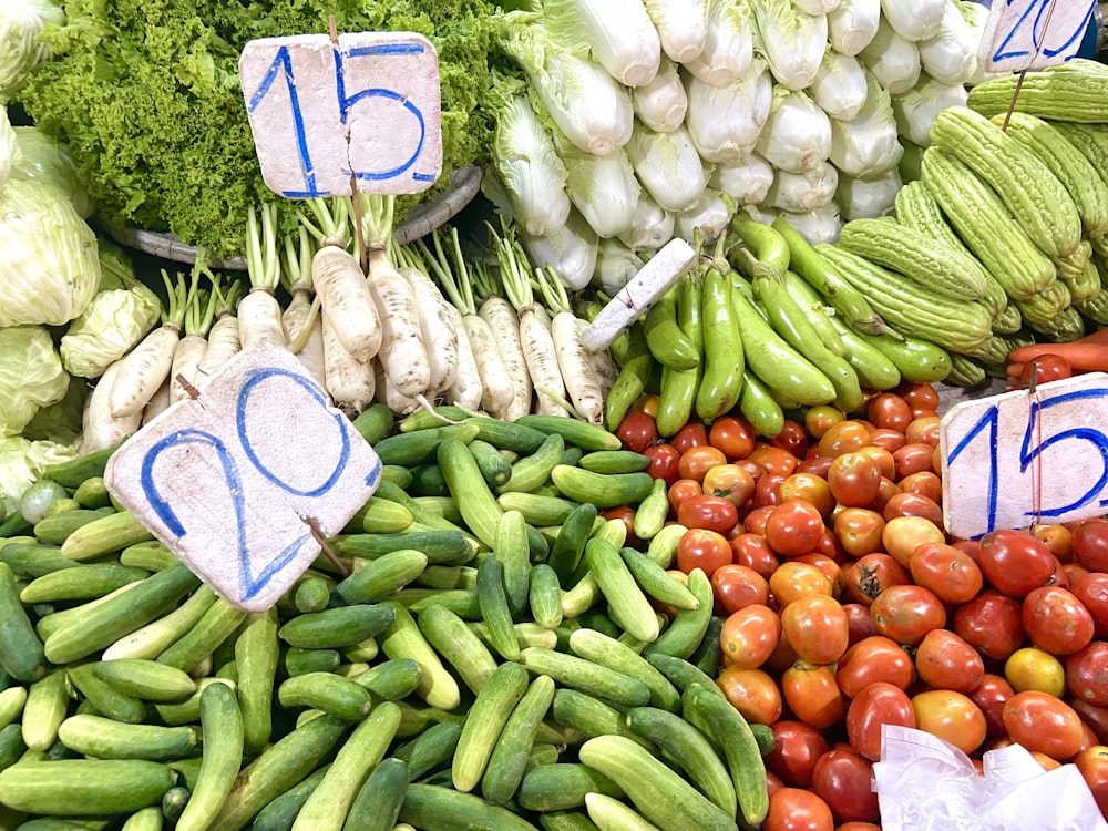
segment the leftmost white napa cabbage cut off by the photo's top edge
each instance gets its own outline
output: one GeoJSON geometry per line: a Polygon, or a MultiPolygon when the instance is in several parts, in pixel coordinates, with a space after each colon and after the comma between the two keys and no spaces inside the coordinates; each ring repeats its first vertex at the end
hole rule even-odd
{"type": "Polygon", "coordinates": [[[626,86],[658,71],[661,41],[642,0],[543,0],[543,17],[558,40],[587,44],[593,60],[626,86]]]}

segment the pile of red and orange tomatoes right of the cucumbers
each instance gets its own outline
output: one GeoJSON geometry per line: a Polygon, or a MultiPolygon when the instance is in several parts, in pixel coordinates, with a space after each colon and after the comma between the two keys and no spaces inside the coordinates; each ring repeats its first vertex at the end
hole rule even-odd
{"type": "Polygon", "coordinates": [[[811,408],[772,440],[730,416],[664,439],[652,406],[617,432],[688,529],[675,576],[711,578],[717,684],[776,736],[765,831],[880,829],[885,724],[978,771],[1012,742],[1074,763],[1108,815],[1108,520],[950,537],[927,384],[811,408]]]}

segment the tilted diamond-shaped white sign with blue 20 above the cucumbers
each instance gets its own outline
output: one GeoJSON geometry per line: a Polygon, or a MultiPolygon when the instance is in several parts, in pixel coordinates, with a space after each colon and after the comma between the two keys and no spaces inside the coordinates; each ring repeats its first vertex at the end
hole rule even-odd
{"type": "Polygon", "coordinates": [[[120,503],[227,602],[273,606],[377,489],[381,461],[286,349],[239,352],[112,455],[120,503]]]}

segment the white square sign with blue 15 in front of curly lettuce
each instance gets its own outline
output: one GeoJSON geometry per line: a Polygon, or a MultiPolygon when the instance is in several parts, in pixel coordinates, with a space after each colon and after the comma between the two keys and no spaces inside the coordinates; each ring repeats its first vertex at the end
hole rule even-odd
{"type": "Polygon", "coordinates": [[[283,196],[419,193],[442,171],[439,63],[420,34],[253,40],[238,78],[263,178],[283,196]]]}

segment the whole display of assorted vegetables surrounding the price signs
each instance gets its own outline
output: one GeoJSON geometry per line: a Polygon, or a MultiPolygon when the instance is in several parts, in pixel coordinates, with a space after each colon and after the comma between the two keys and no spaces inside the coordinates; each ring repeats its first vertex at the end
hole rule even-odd
{"type": "Polygon", "coordinates": [[[1009,742],[1073,765],[1108,815],[1108,521],[946,534],[934,387],[1108,366],[1104,66],[1033,73],[1005,120],[974,3],[359,7],[340,29],[439,41],[451,102],[491,88],[444,132],[488,145],[500,216],[398,246],[391,199],[261,198],[233,124],[238,39],[317,10],[25,6],[0,65],[39,121],[0,122],[0,827],[873,831],[883,724],[978,769],[1009,742]],[[167,72],[209,119],[150,127],[167,72]],[[132,83],[153,109],[119,109],[132,83]],[[145,285],[93,204],[248,274],[145,285]],[[673,236],[694,264],[589,352],[673,236]],[[384,471],[246,614],[103,472],[258,342],[384,471]]]}

